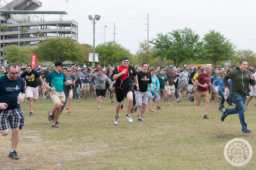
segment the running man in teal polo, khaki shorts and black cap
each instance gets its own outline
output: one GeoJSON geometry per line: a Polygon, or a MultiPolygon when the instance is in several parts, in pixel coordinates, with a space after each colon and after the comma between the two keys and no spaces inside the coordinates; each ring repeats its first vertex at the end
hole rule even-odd
{"type": "Polygon", "coordinates": [[[63,91],[63,84],[64,85],[71,85],[71,80],[66,80],[65,74],[61,71],[62,67],[65,66],[61,61],[55,62],[55,69],[47,74],[44,86],[50,90],[50,97],[55,104],[52,110],[48,114],[48,120],[52,121],[53,112],[55,112],[54,120],[52,122],[53,128],[58,128],[56,122],[60,116],[60,109],[63,103],[65,102],[66,96],[63,91]],[[50,85],[48,85],[50,83],[50,85]]]}

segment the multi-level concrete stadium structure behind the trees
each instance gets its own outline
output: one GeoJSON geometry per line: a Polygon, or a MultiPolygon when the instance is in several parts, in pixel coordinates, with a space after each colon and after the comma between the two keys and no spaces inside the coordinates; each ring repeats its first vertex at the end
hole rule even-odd
{"type": "MultiPolygon", "coordinates": [[[[0,0],[1,1],[1,0],[0,0]]],[[[4,0],[6,2],[6,0],[4,0]]],[[[44,41],[46,37],[72,37],[78,41],[78,23],[74,20],[63,20],[63,15],[67,15],[66,11],[35,11],[42,7],[42,2],[38,0],[13,0],[12,2],[2,6],[0,9],[1,25],[7,25],[9,30],[0,33],[0,60],[3,63],[3,43],[6,45],[18,45],[23,47],[25,44],[37,45],[37,31],[43,32],[39,36],[39,42],[44,41]],[[59,20],[46,21],[44,15],[58,15],[59,20]],[[27,33],[21,33],[22,28],[27,29],[27,33]]]]}

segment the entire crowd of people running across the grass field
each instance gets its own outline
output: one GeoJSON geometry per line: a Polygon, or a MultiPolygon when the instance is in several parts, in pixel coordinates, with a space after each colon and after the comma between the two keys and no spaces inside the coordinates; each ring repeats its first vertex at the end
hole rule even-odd
{"type": "MultiPolygon", "coordinates": [[[[249,109],[248,103],[255,95],[256,68],[248,67],[246,60],[241,60],[239,66],[224,67],[149,67],[147,62],[135,67],[129,65],[128,57],[122,59],[122,64],[116,67],[95,68],[73,65],[65,67],[61,61],[56,61],[52,67],[31,65],[18,67],[11,63],[8,68],[2,67],[0,73],[0,133],[3,136],[9,133],[9,124],[12,129],[12,146],[9,157],[20,159],[15,151],[19,138],[20,129],[25,125],[25,118],[20,103],[28,100],[30,109],[29,116],[34,116],[33,101],[41,96],[51,99],[53,108],[48,112],[48,120],[52,121],[52,127],[58,128],[58,118],[62,111],[70,112],[72,98],[79,102],[82,96],[84,100],[88,95],[93,95],[97,100],[97,109],[100,102],[110,93],[110,103],[114,104],[113,98],[116,94],[116,115],[114,124],[118,124],[120,109],[123,109],[123,101],[127,99],[126,120],[132,123],[131,113],[137,112],[139,108],[138,121],[144,120],[144,113],[149,104],[149,112],[154,112],[153,101],[156,102],[157,110],[160,100],[166,101],[166,105],[172,107],[172,100],[180,102],[181,93],[191,102],[202,106],[201,100],[205,102],[204,119],[207,116],[209,103],[217,100],[220,103],[219,110],[222,112],[221,121],[228,115],[239,114],[242,125],[242,133],[249,133],[244,119],[245,109],[249,109]],[[20,94],[20,95],[19,95],[20,94]],[[228,95],[229,94],[229,95],[228,95]],[[228,96],[227,96],[228,95],[228,96]],[[22,97],[21,97],[22,96],[22,97]],[[248,100],[247,96],[249,96],[248,100]],[[228,105],[236,105],[232,109],[224,109],[224,102],[228,105]],[[168,103],[168,104],[167,104],[168,103]]],[[[163,103],[162,103],[163,104],[163,103]]],[[[256,107],[256,104],[255,104],[256,107]]]]}

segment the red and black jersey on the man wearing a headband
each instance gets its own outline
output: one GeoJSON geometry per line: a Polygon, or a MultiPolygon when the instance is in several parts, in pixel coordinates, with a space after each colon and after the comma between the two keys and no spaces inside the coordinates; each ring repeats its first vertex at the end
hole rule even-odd
{"type": "Polygon", "coordinates": [[[118,65],[113,70],[112,77],[115,74],[121,73],[124,69],[126,69],[126,73],[121,75],[116,79],[115,88],[128,89],[132,87],[132,77],[137,75],[137,72],[133,66],[124,67],[123,65],[118,65]]]}

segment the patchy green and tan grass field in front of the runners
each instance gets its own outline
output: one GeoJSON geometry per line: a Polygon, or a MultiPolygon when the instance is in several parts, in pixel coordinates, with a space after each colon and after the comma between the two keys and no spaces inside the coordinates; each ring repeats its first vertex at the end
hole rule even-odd
{"type": "MultiPolygon", "coordinates": [[[[245,121],[252,130],[242,134],[238,114],[220,121],[217,100],[210,102],[209,119],[203,119],[203,106],[182,97],[180,103],[160,101],[162,110],[147,108],[147,122],[127,122],[126,100],[114,125],[115,106],[109,95],[96,109],[92,97],[72,102],[60,115],[58,125],[52,128],[48,112],[51,100],[39,99],[34,103],[34,116],[29,117],[28,101],[21,104],[26,124],[20,130],[16,151],[20,160],[8,158],[11,131],[0,137],[0,169],[255,169],[255,109],[256,99],[245,111],[245,121]],[[243,138],[252,146],[252,159],[242,167],[230,165],[224,158],[224,147],[233,138],[243,138]]],[[[226,108],[232,108],[225,102],[226,108]]]]}

